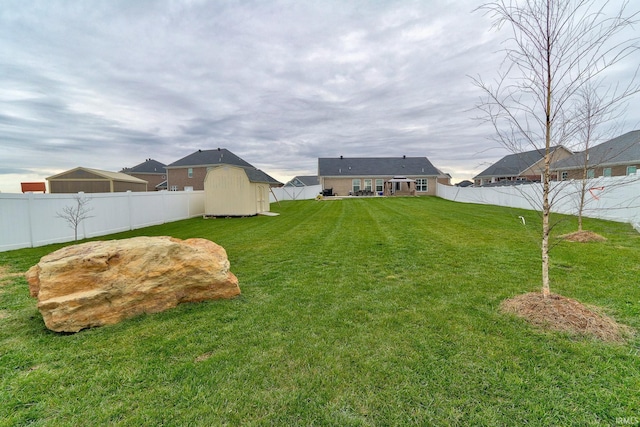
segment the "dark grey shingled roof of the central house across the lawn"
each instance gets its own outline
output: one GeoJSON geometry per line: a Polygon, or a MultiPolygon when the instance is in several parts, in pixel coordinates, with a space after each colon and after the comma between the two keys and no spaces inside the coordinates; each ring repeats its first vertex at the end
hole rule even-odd
{"type": "Polygon", "coordinates": [[[319,158],[319,176],[440,176],[426,157],[319,158]]]}

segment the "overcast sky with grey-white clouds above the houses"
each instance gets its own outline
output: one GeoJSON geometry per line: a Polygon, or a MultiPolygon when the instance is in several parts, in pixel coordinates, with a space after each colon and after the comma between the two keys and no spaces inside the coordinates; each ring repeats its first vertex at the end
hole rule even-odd
{"type": "Polygon", "coordinates": [[[0,191],[218,147],[282,182],[340,155],[470,179],[509,154],[473,120],[504,56],[481,3],[0,0],[0,191]]]}

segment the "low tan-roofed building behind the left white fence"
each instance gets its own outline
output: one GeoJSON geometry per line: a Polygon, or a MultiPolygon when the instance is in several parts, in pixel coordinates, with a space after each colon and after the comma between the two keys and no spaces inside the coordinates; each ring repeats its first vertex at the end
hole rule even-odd
{"type": "Polygon", "coordinates": [[[147,191],[147,181],[121,172],[77,167],[47,178],[50,193],[147,191]]]}

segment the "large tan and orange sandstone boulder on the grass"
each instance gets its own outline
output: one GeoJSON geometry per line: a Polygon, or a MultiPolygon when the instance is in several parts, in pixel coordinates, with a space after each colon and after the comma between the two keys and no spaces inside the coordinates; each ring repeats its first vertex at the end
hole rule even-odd
{"type": "Polygon", "coordinates": [[[135,237],[67,246],[42,257],[26,276],[44,323],[57,332],[240,294],[224,248],[205,239],[135,237]]]}

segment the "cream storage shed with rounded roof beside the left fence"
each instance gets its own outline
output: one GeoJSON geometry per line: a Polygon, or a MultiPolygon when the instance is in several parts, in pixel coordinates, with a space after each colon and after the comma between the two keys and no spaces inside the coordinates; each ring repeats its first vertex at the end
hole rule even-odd
{"type": "Polygon", "coordinates": [[[205,216],[252,216],[269,212],[273,178],[255,168],[220,165],[204,179],[205,216]]]}

